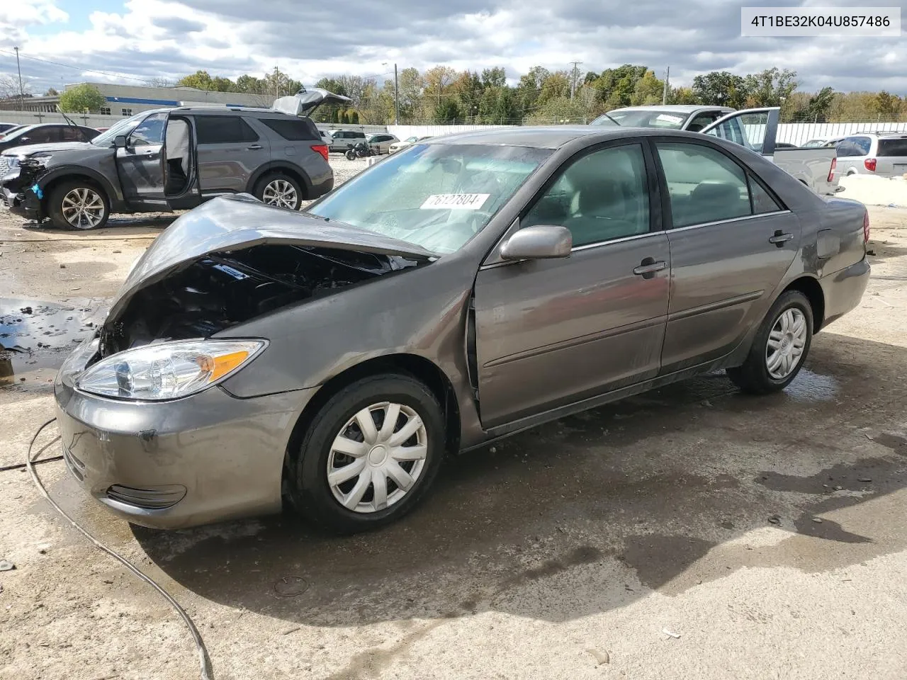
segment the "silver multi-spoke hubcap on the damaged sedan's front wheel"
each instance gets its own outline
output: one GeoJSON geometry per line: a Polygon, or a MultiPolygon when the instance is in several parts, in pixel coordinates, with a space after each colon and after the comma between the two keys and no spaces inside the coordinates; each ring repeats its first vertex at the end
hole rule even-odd
{"type": "Polygon", "coordinates": [[[427,452],[428,432],[418,413],[402,403],[374,403],[335,437],[327,484],[346,510],[385,510],[413,488],[427,452]]]}

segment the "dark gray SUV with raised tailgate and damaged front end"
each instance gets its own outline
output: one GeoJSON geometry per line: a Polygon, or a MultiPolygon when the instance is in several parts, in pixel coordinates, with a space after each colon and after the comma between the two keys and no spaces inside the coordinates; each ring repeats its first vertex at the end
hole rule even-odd
{"type": "Polygon", "coordinates": [[[141,112],[91,142],[5,151],[0,193],[13,212],[58,228],[99,228],[112,212],[191,209],[238,193],[295,210],[334,186],[327,145],[303,114],[346,101],[309,90],[271,109],[141,112]]]}

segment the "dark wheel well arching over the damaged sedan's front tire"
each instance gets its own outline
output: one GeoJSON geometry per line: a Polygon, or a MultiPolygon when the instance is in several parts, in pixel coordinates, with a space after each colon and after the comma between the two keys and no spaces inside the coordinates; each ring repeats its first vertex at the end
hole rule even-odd
{"type": "Polygon", "coordinates": [[[357,380],[369,375],[387,373],[408,375],[432,391],[444,410],[447,450],[455,452],[460,446],[460,408],[457,404],[456,394],[453,392],[453,384],[444,371],[428,359],[418,355],[400,354],[379,356],[362,364],[356,364],[323,384],[299,415],[290,436],[287,455],[292,455],[297,451],[308,427],[332,396],[357,380]]]}

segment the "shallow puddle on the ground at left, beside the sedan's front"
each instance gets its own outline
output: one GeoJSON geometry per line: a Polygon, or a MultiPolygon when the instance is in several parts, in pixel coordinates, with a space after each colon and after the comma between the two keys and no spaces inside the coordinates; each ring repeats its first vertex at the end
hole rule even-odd
{"type": "Polygon", "coordinates": [[[103,318],[102,300],[61,305],[0,297],[0,386],[52,382],[75,345],[103,318]]]}

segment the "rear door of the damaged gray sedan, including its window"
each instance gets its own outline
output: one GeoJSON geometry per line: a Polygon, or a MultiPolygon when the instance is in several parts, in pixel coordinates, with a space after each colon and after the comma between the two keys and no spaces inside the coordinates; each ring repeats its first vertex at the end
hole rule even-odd
{"type": "Polygon", "coordinates": [[[663,373],[730,353],[765,316],[800,245],[794,213],[707,141],[656,140],[670,201],[663,373]]]}

